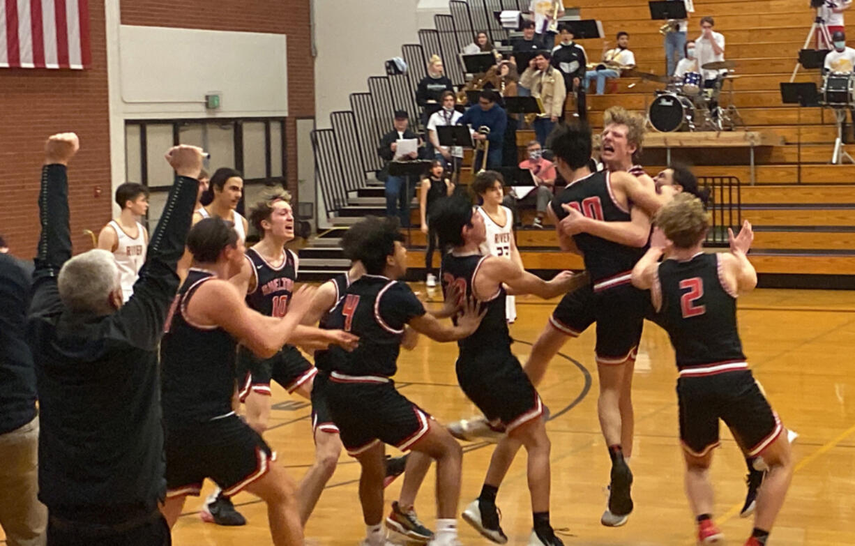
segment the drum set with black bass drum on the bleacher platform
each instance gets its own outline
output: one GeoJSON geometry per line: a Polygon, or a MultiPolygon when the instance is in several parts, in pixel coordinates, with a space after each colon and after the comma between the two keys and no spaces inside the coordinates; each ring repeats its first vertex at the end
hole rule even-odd
{"type": "MultiPolygon", "coordinates": [[[[701,70],[730,70],[735,67],[733,61],[707,62],[701,70]]],[[[745,126],[734,105],[734,79],[739,78],[738,75],[724,73],[711,88],[705,88],[704,77],[699,72],[684,73],[679,79],[646,72],[633,75],[666,85],[664,90],[655,91],[656,98],[647,108],[647,121],[658,132],[721,132],[733,131],[737,125],[745,126]],[[728,82],[728,106],[722,108],[719,99],[728,82]]]]}

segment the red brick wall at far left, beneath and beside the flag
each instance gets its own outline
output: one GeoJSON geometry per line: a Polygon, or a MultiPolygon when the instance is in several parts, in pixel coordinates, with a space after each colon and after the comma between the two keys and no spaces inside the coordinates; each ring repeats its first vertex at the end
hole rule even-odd
{"type": "Polygon", "coordinates": [[[80,135],[80,153],[69,168],[74,250],[91,248],[84,229],[109,220],[109,103],[103,0],[89,0],[92,68],[0,68],[0,232],[11,251],[35,255],[38,180],[44,139],[54,132],[80,135]],[[94,197],[100,187],[100,197],[94,197]]]}

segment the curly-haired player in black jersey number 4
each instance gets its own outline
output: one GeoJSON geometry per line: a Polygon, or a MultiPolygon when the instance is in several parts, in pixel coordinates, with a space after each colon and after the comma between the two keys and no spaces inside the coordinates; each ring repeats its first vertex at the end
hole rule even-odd
{"type": "Polygon", "coordinates": [[[457,312],[457,302],[439,314],[426,313],[410,287],[398,280],[406,273],[407,253],[397,222],[369,217],[348,231],[358,242],[351,259],[361,261],[365,274],[352,283],[325,320],[360,338],[348,353],[331,347],[315,355],[329,370],[325,394],[333,422],[348,453],[362,466],[359,498],[367,527],[366,546],[386,543],[383,519],[383,455],[385,443],[422,452],[437,461],[437,529],[432,544],[457,543],[457,501],[460,494],[460,444],[442,426],[398,393],[392,382],[404,338],[411,326],[440,342],[475,332],[481,321],[472,302],[464,306],[457,326],[444,326],[437,316],[457,312]]]}

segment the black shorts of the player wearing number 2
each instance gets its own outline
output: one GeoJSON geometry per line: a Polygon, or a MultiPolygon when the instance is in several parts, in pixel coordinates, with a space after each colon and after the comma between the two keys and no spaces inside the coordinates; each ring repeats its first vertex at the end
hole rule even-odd
{"type": "Polygon", "coordinates": [[[680,439],[683,449],[705,456],[718,444],[718,420],[733,432],[747,456],[760,455],[781,435],[783,426],[744,367],[728,363],[722,371],[715,363],[683,368],[677,379],[680,439]]]}

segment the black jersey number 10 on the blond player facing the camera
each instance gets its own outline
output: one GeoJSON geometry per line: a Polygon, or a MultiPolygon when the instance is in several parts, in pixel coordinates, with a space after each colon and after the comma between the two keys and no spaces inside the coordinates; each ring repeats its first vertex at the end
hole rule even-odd
{"type": "Polygon", "coordinates": [[[280,267],[271,266],[255,249],[246,251],[252,263],[256,289],[246,295],[246,304],[261,314],[284,317],[297,280],[297,260],[291,250],[283,250],[285,260],[280,267]]]}

